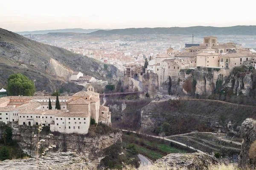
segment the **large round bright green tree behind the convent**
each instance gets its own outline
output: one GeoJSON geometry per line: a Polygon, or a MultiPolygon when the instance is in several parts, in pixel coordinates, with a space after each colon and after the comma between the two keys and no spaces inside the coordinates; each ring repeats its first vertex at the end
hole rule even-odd
{"type": "Polygon", "coordinates": [[[7,91],[11,96],[33,96],[35,94],[34,82],[21,73],[10,75],[7,82],[7,91]]]}

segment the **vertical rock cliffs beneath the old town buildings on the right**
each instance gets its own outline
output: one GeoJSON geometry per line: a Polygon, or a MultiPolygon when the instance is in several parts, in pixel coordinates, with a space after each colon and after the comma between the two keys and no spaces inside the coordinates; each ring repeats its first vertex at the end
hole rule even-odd
{"type": "MultiPolygon", "coordinates": [[[[152,72],[143,74],[144,90],[155,89],[157,92],[168,94],[168,82],[169,80],[159,80],[159,76],[152,72]]],[[[244,67],[235,70],[202,67],[184,69],[180,70],[176,79],[172,79],[172,95],[209,96],[216,90],[221,90],[226,94],[244,94],[244,96],[250,97],[252,93],[256,93],[255,82],[256,71],[249,71],[244,67]]]]}

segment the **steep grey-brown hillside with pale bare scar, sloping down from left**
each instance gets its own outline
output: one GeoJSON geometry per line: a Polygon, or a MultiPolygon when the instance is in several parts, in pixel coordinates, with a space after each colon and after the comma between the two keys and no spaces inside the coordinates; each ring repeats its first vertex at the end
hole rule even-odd
{"type": "Polygon", "coordinates": [[[10,74],[20,72],[35,82],[38,91],[52,92],[65,86],[76,92],[82,87],[66,82],[73,71],[108,81],[119,72],[113,65],[106,70],[102,62],[0,28],[0,86],[6,85],[10,74]]]}

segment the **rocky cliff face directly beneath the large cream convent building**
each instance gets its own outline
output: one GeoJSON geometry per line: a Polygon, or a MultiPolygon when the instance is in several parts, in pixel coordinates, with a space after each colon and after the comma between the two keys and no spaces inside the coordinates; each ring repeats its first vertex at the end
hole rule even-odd
{"type": "MultiPolygon", "coordinates": [[[[34,135],[37,134],[37,131],[36,127],[28,127],[12,123],[12,139],[17,140],[20,148],[31,156],[36,155],[38,138],[37,136],[34,137],[34,135]]],[[[2,133],[1,130],[0,133],[2,133]]],[[[42,142],[43,147],[55,144],[56,148],[53,150],[55,152],[77,151],[86,155],[90,161],[96,161],[96,163],[99,163],[99,157],[103,158],[105,156],[103,150],[107,147],[116,144],[122,148],[121,131],[104,135],[97,134],[93,137],[81,134],[52,133],[54,135],[50,138],[47,137],[49,136],[48,133],[44,133],[43,131],[40,133],[40,140],[45,139],[45,142],[42,142]]]]}

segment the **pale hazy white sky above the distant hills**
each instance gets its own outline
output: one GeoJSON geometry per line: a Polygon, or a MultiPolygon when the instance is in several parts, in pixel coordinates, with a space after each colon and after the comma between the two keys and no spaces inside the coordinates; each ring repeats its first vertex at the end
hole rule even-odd
{"type": "Polygon", "coordinates": [[[256,0],[0,0],[0,28],[256,25],[256,0]]]}

